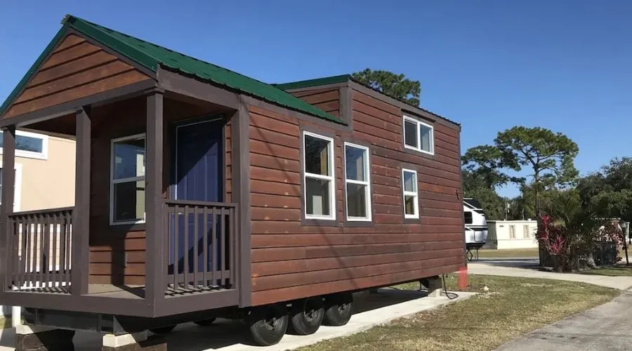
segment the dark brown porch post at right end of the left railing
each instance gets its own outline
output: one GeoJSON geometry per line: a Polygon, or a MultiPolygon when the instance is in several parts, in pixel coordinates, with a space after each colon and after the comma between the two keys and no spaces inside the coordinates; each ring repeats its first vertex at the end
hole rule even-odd
{"type": "Polygon", "coordinates": [[[72,216],[72,267],[70,291],[74,296],[88,293],[90,275],[90,107],[76,112],[76,161],[74,175],[74,210],[72,216]]]}

